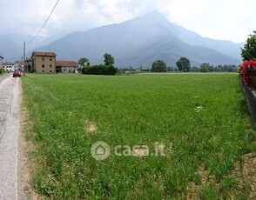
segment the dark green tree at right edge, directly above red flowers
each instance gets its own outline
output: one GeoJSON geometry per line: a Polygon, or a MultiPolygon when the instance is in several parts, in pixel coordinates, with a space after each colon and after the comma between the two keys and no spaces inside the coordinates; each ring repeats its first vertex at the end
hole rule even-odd
{"type": "Polygon", "coordinates": [[[246,40],[246,44],[244,45],[244,49],[242,49],[241,56],[244,61],[248,60],[256,60],[256,31],[253,31],[253,34],[250,34],[246,40]]]}

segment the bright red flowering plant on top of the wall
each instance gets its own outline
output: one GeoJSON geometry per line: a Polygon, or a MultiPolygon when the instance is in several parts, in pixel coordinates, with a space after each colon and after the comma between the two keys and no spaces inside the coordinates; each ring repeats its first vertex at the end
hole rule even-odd
{"type": "Polygon", "coordinates": [[[245,61],[239,67],[240,77],[245,85],[250,85],[252,80],[251,70],[256,69],[256,61],[245,61]]]}

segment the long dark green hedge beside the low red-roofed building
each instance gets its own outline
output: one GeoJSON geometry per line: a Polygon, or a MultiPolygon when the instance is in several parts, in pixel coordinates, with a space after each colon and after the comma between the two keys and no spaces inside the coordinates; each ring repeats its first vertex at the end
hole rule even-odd
{"type": "Polygon", "coordinates": [[[104,64],[86,66],[82,69],[82,74],[91,74],[91,75],[116,75],[118,69],[113,65],[106,66],[104,64]]]}

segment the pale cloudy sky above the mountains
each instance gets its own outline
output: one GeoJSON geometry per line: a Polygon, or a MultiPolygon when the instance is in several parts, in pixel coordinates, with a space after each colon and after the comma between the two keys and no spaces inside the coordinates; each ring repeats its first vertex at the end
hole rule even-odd
{"type": "MultiPolygon", "coordinates": [[[[57,0],[0,0],[0,35],[36,35],[57,0]]],[[[41,35],[66,35],[158,10],[203,37],[245,42],[256,30],[255,0],[59,0],[41,35]]]]}

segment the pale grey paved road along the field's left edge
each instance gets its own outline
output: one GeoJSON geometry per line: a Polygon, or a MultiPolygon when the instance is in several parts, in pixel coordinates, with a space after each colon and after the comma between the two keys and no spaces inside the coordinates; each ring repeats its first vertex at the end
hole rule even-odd
{"type": "Polygon", "coordinates": [[[17,197],[19,78],[0,76],[0,200],[17,197]]]}

